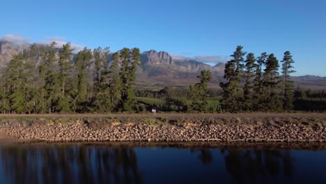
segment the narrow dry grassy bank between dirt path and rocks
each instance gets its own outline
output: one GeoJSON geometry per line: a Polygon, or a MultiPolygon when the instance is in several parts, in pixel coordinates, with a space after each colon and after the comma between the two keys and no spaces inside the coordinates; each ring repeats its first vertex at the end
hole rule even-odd
{"type": "Polygon", "coordinates": [[[326,126],[326,114],[1,114],[0,125],[55,125],[83,122],[93,128],[104,125],[302,125],[326,126]]]}

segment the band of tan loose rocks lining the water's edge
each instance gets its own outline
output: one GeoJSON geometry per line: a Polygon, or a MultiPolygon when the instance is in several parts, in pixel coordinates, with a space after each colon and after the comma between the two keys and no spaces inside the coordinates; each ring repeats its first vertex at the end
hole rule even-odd
{"type": "Polygon", "coordinates": [[[18,139],[43,141],[320,141],[326,142],[326,124],[322,123],[17,123],[4,121],[0,133],[18,139]]]}

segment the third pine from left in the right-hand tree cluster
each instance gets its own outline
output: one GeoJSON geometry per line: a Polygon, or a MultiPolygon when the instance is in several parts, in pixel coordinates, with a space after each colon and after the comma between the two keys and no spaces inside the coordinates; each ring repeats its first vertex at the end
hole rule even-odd
{"type": "Polygon", "coordinates": [[[268,55],[266,52],[257,57],[256,77],[254,79],[254,110],[263,109],[263,66],[268,55]]]}

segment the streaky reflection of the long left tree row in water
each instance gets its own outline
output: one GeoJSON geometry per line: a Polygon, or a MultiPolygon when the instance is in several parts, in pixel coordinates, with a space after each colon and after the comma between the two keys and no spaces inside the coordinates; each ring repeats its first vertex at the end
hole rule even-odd
{"type": "Polygon", "coordinates": [[[1,146],[6,183],[142,183],[133,148],[1,146]]]}

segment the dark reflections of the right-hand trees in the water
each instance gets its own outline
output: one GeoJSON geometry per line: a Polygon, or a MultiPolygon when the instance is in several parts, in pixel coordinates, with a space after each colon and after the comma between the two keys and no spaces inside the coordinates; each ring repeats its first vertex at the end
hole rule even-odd
{"type": "MultiPolygon", "coordinates": [[[[204,165],[212,163],[213,155],[210,149],[192,150],[200,152],[199,160],[204,165]]],[[[284,176],[293,175],[293,161],[290,151],[239,151],[221,149],[224,155],[226,170],[237,183],[256,183],[257,180],[277,178],[283,168],[284,176]]]]}

